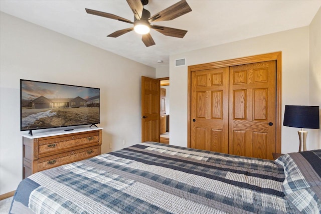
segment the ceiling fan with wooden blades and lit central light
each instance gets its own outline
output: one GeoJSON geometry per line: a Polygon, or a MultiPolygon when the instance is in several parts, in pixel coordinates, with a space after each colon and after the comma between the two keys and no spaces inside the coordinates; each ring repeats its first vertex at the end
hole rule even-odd
{"type": "Polygon", "coordinates": [[[150,29],[154,29],[155,31],[158,31],[159,33],[164,34],[165,36],[170,37],[178,37],[183,38],[187,31],[180,30],[176,28],[169,28],[169,27],[163,27],[158,25],[150,25],[152,22],[158,22],[158,21],[169,21],[174,20],[184,14],[187,14],[192,11],[190,6],[187,4],[186,0],[182,0],[171,7],[153,15],[150,16],[149,11],[145,10],[143,8],[144,5],[148,4],[148,0],[126,0],[130,9],[134,13],[134,22],[131,22],[130,20],[118,17],[113,14],[108,14],[100,11],[95,11],[91,9],[85,9],[87,14],[93,14],[100,17],[105,17],[109,19],[118,20],[121,22],[133,24],[134,26],[131,28],[122,29],[119,31],[116,31],[107,37],[119,37],[125,33],[128,33],[132,30],[134,30],[136,33],[142,35],[142,42],[145,44],[146,47],[155,45],[154,40],[152,39],[151,35],[149,34],[150,29]]]}

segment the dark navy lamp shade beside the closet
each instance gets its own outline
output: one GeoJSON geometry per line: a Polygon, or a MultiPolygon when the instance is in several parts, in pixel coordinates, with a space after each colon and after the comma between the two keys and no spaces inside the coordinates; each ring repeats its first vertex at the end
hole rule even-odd
{"type": "Polygon", "coordinates": [[[285,106],[283,126],[320,128],[318,106],[285,106]]]}

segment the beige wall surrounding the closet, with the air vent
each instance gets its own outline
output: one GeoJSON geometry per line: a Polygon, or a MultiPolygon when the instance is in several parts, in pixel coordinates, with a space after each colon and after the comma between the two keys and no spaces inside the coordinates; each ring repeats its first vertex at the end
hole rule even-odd
{"type": "MultiPolygon", "coordinates": [[[[320,37],[318,37],[319,40],[320,37]]],[[[309,27],[255,37],[170,56],[171,144],[187,146],[187,66],[174,67],[175,59],[188,65],[282,52],[282,118],[284,105],[309,103],[309,27]]],[[[320,83],[320,79],[318,83],[320,83]]],[[[282,126],[284,153],[298,150],[297,128],[282,126]]],[[[317,146],[307,137],[307,149],[317,146]]]]}

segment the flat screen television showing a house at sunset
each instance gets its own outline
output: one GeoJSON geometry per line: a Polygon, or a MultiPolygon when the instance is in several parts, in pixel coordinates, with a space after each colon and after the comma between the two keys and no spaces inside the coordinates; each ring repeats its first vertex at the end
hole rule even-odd
{"type": "Polygon", "coordinates": [[[20,80],[20,130],[100,123],[100,89],[20,80]]]}

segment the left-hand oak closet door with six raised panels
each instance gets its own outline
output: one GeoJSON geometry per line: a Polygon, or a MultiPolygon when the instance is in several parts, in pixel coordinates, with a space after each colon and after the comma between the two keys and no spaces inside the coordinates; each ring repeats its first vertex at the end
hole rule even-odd
{"type": "Polygon", "coordinates": [[[191,148],[228,153],[229,68],[192,72],[191,148]]]}

